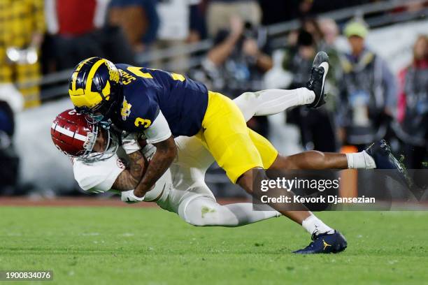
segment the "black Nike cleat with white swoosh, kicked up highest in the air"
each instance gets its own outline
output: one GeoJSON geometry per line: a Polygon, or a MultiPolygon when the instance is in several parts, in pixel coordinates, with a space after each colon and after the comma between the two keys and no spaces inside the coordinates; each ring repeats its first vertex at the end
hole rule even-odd
{"type": "Polygon", "coordinates": [[[329,56],[325,52],[318,52],[313,59],[311,78],[306,82],[306,88],[315,93],[315,100],[308,104],[309,108],[318,108],[325,104],[324,83],[329,72],[329,56]]]}

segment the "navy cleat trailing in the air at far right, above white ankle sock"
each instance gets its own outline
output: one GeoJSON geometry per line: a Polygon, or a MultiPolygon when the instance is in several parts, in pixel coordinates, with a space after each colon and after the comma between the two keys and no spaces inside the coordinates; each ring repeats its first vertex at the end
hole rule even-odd
{"type": "Polygon", "coordinates": [[[366,153],[373,158],[376,163],[377,169],[395,169],[397,171],[388,173],[390,177],[404,186],[411,188],[413,181],[408,175],[406,168],[400,163],[400,161],[392,154],[391,147],[388,145],[386,140],[379,140],[373,142],[369,147],[365,149],[366,153]]]}

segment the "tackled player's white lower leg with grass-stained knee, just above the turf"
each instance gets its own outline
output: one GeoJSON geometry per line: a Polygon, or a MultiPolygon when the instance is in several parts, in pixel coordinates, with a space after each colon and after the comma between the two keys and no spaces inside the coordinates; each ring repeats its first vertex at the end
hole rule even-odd
{"type": "Polygon", "coordinates": [[[194,226],[244,226],[272,217],[276,211],[255,211],[251,203],[220,205],[212,198],[199,196],[191,200],[180,217],[194,226]],[[183,217],[182,217],[183,216],[183,217]]]}

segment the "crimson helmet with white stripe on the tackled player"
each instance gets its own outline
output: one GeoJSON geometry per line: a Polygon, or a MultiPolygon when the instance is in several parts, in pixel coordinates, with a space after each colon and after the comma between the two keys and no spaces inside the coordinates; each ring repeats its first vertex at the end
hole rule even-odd
{"type": "Polygon", "coordinates": [[[117,139],[108,129],[104,152],[93,152],[99,135],[99,124],[90,124],[84,115],[69,109],[57,115],[50,128],[52,141],[64,154],[83,161],[99,161],[113,156],[119,146],[117,139]]]}

